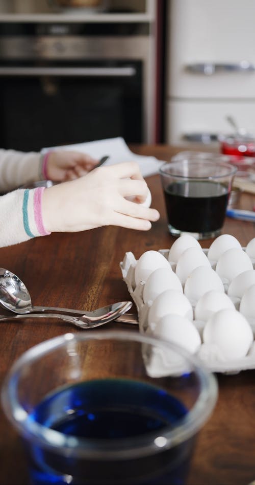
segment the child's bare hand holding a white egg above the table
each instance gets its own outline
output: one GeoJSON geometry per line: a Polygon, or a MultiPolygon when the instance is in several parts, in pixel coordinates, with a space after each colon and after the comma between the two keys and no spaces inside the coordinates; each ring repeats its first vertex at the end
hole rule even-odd
{"type": "Polygon", "coordinates": [[[44,190],[42,218],[48,232],[78,232],[100,226],[146,231],[159,212],[144,207],[148,187],[135,162],[99,167],[78,180],[44,190]],[[140,203],[126,200],[135,197],[140,203]]]}

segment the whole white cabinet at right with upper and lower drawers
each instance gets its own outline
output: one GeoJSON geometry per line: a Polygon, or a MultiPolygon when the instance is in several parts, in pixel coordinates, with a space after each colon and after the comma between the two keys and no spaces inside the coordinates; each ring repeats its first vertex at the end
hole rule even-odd
{"type": "Polygon", "coordinates": [[[170,0],[165,141],[255,130],[254,0],[170,0]]]}

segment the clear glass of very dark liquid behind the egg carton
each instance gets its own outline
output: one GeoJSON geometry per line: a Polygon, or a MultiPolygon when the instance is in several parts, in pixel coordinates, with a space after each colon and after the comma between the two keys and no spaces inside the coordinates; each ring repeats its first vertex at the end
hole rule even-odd
{"type": "Polygon", "coordinates": [[[237,167],[222,158],[188,156],[160,168],[168,228],[173,236],[217,237],[237,167]]]}

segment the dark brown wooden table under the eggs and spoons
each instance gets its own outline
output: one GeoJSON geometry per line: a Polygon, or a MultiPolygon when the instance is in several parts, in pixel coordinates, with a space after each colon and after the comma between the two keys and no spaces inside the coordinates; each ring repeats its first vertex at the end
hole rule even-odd
{"type": "MultiPolygon", "coordinates": [[[[169,160],[181,148],[169,146],[132,146],[133,151],[169,160]]],[[[159,175],[147,179],[152,206],[161,213],[149,232],[103,227],[77,234],[52,234],[0,249],[0,266],[27,284],[33,304],[92,310],[115,301],[129,300],[122,281],[119,262],[126,251],[138,258],[149,249],[171,246],[159,175]]],[[[242,194],[241,208],[252,209],[255,196],[242,194]]],[[[233,234],[246,246],[255,237],[249,222],[226,218],[223,233],[233,234]]],[[[209,247],[212,240],[201,241],[209,247]]],[[[135,308],[133,307],[133,311],[135,308]]],[[[102,327],[103,328],[103,327],[102,327]]],[[[121,323],[104,327],[137,328],[121,323]]],[[[77,329],[55,320],[27,320],[1,323],[1,383],[14,360],[37,343],[77,329]]],[[[188,483],[248,484],[255,479],[255,370],[232,376],[219,374],[219,399],[213,416],[199,434],[188,483]]],[[[27,484],[25,462],[16,431],[1,409],[0,483],[27,484]]]]}

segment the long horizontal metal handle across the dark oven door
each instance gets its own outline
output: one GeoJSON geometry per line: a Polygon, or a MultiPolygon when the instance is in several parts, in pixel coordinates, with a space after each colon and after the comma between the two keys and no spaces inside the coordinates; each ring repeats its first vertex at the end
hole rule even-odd
{"type": "Polygon", "coordinates": [[[0,68],[1,76],[84,76],[84,77],[132,77],[136,75],[133,66],[121,68],[0,68]]]}

